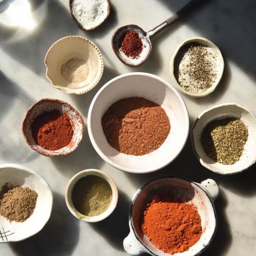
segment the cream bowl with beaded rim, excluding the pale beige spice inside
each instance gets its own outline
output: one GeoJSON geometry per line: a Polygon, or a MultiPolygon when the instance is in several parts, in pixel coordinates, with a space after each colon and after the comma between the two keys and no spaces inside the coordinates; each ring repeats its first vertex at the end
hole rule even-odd
{"type": "Polygon", "coordinates": [[[65,93],[83,94],[92,90],[103,74],[103,58],[98,47],[87,38],[67,36],[56,41],[45,58],[46,76],[53,87],[65,93]],[[89,68],[86,80],[74,83],[61,75],[61,66],[72,58],[84,60],[89,68]]]}

